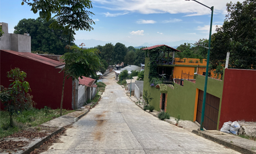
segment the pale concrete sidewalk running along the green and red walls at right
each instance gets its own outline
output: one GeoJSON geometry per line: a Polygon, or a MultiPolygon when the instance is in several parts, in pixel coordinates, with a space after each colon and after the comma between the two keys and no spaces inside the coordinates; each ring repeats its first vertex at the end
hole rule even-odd
{"type": "MultiPolygon", "coordinates": [[[[143,104],[137,104],[137,98],[135,96],[129,96],[129,98],[135,102],[137,106],[139,106],[141,109],[143,109],[143,104]]],[[[154,110],[153,112],[150,112],[149,110],[146,110],[146,112],[149,112],[154,117],[158,117],[158,111],[154,110]]],[[[170,123],[172,125],[175,125],[176,121],[174,117],[170,117],[170,119],[165,119],[167,123],[170,123]]],[[[209,139],[210,141],[214,141],[216,143],[219,143],[221,145],[224,145],[230,149],[233,149],[235,151],[238,151],[240,153],[250,153],[250,154],[256,154],[256,141],[250,140],[250,139],[244,139],[242,137],[238,137],[237,135],[232,135],[228,133],[223,133],[220,131],[215,130],[205,130],[205,131],[198,131],[199,125],[196,123],[193,123],[192,121],[183,121],[180,120],[179,127],[186,129],[187,131],[190,131],[192,133],[195,133],[196,135],[199,135],[201,137],[204,137],[205,139],[209,139]]]]}

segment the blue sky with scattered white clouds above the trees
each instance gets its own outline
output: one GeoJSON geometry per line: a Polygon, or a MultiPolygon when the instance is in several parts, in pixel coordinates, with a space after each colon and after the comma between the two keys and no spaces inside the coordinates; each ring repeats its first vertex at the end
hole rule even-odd
{"type": "MultiPolygon", "coordinates": [[[[214,6],[212,33],[222,26],[230,0],[198,0],[214,6]]],[[[232,3],[236,3],[232,1],[232,3]]],[[[9,33],[21,19],[39,17],[21,0],[0,0],[0,22],[9,24],[9,33]]],[[[76,31],[75,44],[87,48],[120,42],[125,46],[179,46],[209,38],[211,10],[185,0],[92,0],[92,31],[76,31]]],[[[32,36],[33,37],[33,36],[32,36]]]]}

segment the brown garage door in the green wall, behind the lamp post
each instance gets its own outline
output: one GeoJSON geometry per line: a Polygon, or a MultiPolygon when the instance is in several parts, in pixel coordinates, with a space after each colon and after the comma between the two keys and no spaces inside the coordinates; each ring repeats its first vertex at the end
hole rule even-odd
{"type": "MultiPolygon", "coordinates": [[[[201,110],[203,106],[203,91],[199,90],[197,104],[197,122],[201,124],[201,110]]],[[[206,94],[205,114],[203,127],[207,130],[216,130],[218,123],[218,113],[220,106],[220,98],[212,94],[206,94]]]]}

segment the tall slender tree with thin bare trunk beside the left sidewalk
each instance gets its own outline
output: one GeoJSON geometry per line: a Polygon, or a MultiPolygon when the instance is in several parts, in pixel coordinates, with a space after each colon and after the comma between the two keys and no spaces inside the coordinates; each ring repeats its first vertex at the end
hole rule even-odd
{"type": "MultiPolygon", "coordinates": [[[[71,35],[72,33],[75,34],[75,31],[93,30],[93,27],[90,25],[95,23],[89,16],[94,15],[94,13],[86,10],[86,9],[92,8],[92,2],[90,0],[73,0],[73,1],[61,0],[60,5],[61,5],[60,11],[57,13],[57,15],[55,15],[56,21],[53,22],[50,25],[50,27],[54,27],[55,29],[61,28],[65,30],[67,33],[69,33],[69,44],[71,42],[71,35]]],[[[70,46],[67,47],[68,52],[69,52],[69,49],[70,49],[70,46]]],[[[79,55],[79,52],[75,54],[79,55]]],[[[68,56],[68,54],[66,54],[65,56],[68,56]]],[[[93,60],[96,60],[98,56],[96,55],[94,56],[95,57],[93,60]]],[[[89,58],[89,57],[90,56],[88,57],[82,56],[82,58],[89,58]]],[[[98,67],[98,65],[93,66],[92,64],[88,63],[90,60],[86,60],[86,59],[79,59],[79,60],[81,61],[76,63],[69,61],[69,59],[65,61],[65,69],[63,70],[64,71],[63,86],[62,86],[62,94],[61,94],[61,112],[60,112],[61,115],[62,115],[66,71],[68,71],[67,76],[72,76],[72,78],[74,79],[74,78],[78,78],[77,76],[82,76],[82,75],[86,76],[85,74],[92,74],[92,71],[95,70],[94,68],[98,67]],[[81,72],[82,67],[85,64],[86,65],[90,64],[86,68],[84,68],[88,72],[81,72]],[[76,67],[77,67],[77,70],[75,70],[76,67]]],[[[99,61],[96,60],[95,62],[97,63],[99,61]]]]}

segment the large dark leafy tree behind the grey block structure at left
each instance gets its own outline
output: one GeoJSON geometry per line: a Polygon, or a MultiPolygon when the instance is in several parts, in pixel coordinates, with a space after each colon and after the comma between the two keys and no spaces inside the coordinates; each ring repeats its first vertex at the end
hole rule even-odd
{"type": "MultiPolygon", "coordinates": [[[[64,48],[69,43],[69,35],[65,34],[62,29],[49,28],[55,19],[22,19],[18,25],[14,27],[14,33],[30,33],[31,50],[40,50],[57,55],[64,54],[64,48]]],[[[74,36],[71,35],[71,46],[75,45],[74,36]]]]}

